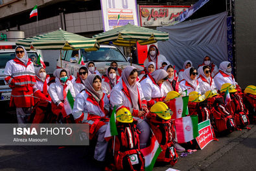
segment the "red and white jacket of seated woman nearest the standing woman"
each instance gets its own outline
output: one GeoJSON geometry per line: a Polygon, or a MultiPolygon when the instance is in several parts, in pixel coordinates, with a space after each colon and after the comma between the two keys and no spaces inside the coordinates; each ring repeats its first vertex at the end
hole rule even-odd
{"type": "Polygon", "coordinates": [[[51,101],[51,97],[48,93],[48,83],[50,80],[50,75],[46,75],[45,82],[41,81],[38,77],[36,77],[36,85],[33,86],[34,90],[34,102],[35,104],[41,99],[45,99],[47,101],[51,101]]]}

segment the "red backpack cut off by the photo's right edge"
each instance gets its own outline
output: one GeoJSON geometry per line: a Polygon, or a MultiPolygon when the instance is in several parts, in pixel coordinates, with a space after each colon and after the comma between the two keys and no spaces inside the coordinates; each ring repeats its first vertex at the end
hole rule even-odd
{"type": "Polygon", "coordinates": [[[244,105],[248,109],[250,121],[256,124],[256,95],[244,94],[242,99],[244,100],[244,105]]]}

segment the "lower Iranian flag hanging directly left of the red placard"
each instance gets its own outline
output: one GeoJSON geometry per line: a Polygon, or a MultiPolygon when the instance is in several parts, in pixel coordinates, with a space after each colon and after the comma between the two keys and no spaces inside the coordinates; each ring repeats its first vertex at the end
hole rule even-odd
{"type": "Polygon", "coordinates": [[[187,143],[199,136],[198,116],[187,116],[175,119],[178,143],[187,143]]]}

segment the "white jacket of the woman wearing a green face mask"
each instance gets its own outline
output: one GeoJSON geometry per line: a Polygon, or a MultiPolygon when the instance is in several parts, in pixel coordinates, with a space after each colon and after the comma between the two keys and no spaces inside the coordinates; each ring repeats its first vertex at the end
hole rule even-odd
{"type": "MultiPolygon", "coordinates": [[[[67,87],[65,88],[65,92],[68,92],[70,90],[71,95],[75,98],[75,90],[71,81],[67,80],[66,85],[67,87]]],[[[62,103],[62,101],[64,101],[64,86],[65,85],[62,85],[62,83],[60,83],[60,79],[58,79],[57,77],[55,78],[55,83],[51,83],[51,85],[49,86],[49,95],[51,96],[53,103],[55,103],[55,105],[57,106],[62,103]]]]}

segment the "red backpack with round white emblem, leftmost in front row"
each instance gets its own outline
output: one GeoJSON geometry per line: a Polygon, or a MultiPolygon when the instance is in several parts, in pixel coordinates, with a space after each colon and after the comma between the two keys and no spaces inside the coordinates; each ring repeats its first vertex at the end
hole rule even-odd
{"type": "Polygon", "coordinates": [[[111,153],[114,150],[114,156],[110,170],[145,170],[145,159],[139,148],[137,121],[117,121],[117,132],[118,136],[111,141],[111,153]]]}

